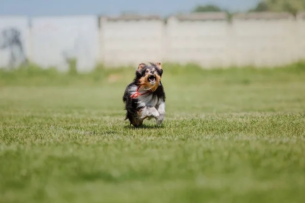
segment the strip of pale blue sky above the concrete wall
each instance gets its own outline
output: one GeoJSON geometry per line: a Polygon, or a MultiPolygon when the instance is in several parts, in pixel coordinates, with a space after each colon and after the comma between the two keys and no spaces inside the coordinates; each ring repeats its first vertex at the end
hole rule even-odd
{"type": "Polygon", "coordinates": [[[119,15],[121,12],[166,16],[189,12],[196,5],[216,4],[242,11],[259,0],[0,0],[0,15],[119,15]]]}

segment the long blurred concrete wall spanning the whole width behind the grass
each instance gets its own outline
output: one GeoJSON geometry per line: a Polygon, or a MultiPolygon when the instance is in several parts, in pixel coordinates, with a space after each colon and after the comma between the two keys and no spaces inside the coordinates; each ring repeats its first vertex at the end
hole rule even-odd
{"type": "Polygon", "coordinates": [[[0,17],[0,66],[28,59],[43,67],[79,71],[96,64],[160,61],[205,68],[277,66],[305,59],[305,14],[200,13],[171,16],[0,17]]]}

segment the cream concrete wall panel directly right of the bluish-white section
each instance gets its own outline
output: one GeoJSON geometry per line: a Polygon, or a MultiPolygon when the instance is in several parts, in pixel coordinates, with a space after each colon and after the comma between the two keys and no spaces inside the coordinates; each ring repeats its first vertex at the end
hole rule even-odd
{"type": "Polygon", "coordinates": [[[164,22],[159,16],[101,18],[101,61],[109,66],[162,61],[164,22]]]}

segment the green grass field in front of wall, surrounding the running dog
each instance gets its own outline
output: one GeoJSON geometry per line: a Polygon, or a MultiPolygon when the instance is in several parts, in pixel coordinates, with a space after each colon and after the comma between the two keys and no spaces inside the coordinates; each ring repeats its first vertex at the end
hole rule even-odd
{"type": "Polygon", "coordinates": [[[166,117],[124,120],[134,69],[0,71],[0,202],[304,202],[305,65],[164,65],[166,117]]]}

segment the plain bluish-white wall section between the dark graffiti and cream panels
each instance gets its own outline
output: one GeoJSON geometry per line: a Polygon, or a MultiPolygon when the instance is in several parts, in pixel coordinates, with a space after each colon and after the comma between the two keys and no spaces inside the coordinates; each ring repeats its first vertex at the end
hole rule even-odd
{"type": "Polygon", "coordinates": [[[32,19],[32,60],[40,66],[66,71],[77,58],[79,71],[90,71],[98,61],[96,16],[37,17],[32,19]]]}

